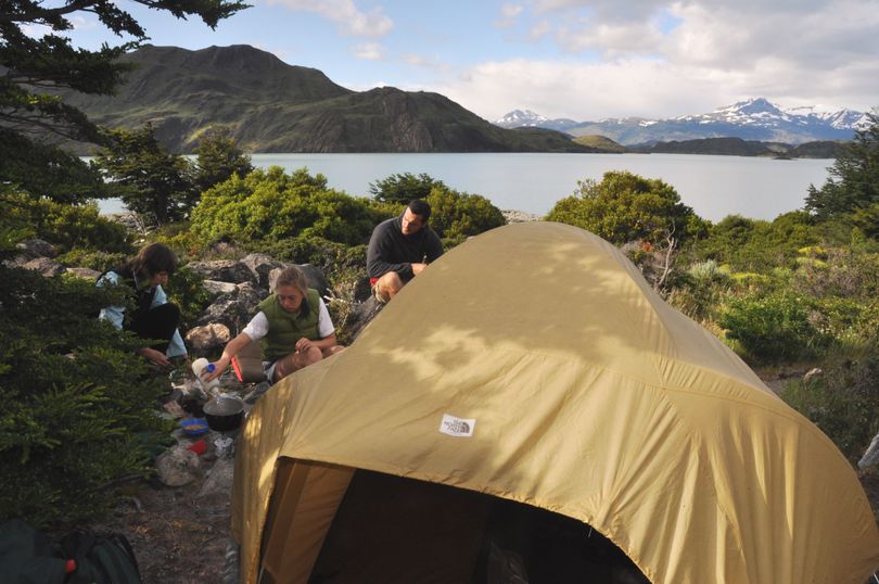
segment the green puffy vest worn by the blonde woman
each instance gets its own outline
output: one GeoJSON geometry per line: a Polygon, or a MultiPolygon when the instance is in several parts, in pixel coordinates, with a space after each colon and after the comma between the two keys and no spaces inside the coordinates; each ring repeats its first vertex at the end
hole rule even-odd
{"type": "Polygon", "coordinates": [[[281,307],[277,294],[271,294],[257,306],[266,314],[269,331],[260,341],[263,360],[277,361],[296,351],[296,341],[305,337],[310,341],[320,339],[318,333],[318,315],[320,296],[317,290],[308,289],[308,314],[300,316],[298,312],[288,313],[281,307]]]}

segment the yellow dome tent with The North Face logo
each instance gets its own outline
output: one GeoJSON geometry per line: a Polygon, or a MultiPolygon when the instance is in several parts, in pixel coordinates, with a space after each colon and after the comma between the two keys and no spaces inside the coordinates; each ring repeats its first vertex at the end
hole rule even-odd
{"type": "Polygon", "coordinates": [[[470,582],[486,499],[587,523],[653,584],[863,584],[879,566],[830,440],[560,224],[451,250],[269,391],[238,447],[247,582],[369,581],[385,556],[385,582],[470,582]]]}

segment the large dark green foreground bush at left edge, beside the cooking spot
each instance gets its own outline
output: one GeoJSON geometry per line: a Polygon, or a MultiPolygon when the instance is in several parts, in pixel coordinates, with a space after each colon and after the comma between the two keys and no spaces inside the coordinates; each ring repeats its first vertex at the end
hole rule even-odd
{"type": "Polygon", "coordinates": [[[145,377],[141,343],[93,314],[119,290],[0,267],[0,521],[94,521],[113,482],[150,471],[167,380],[145,377]]]}

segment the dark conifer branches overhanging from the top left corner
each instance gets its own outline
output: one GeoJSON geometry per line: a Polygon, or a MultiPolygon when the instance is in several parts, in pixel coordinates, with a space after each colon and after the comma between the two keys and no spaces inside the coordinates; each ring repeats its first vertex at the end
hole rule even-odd
{"type": "MultiPolygon", "coordinates": [[[[238,0],[135,0],[135,2],[166,10],[178,18],[200,16],[208,26],[246,8],[238,0]]],[[[64,103],[59,89],[82,93],[112,94],[122,82],[128,65],[117,58],[145,40],[146,31],[116,2],[78,0],[43,2],[41,0],[4,0],[0,4],[0,180],[11,181],[36,195],[65,201],[81,201],[94,196],[94,174],[77,165],[69,154],[47,145],[48,136],[69,140],[103,143],[101,130],[80,112],[64,103]],[[99,50],[76,48],[64,34],[73,28],[75,17],[93,14],[101,25],[118,36],[133,40],[117,47],[103,45],[99,50]],[[36,37],[28,34],[34,25],[48,27],[49,33],[36,37]],[[25,154],[27,153],[27,154],[25,154]],[[31,157],[31,154],[36,154],[31,157]],[[13,154],[13,155],[8,155],[13,154]],[[18,155],[16,155],[18,154],[18,155]],[[75,170],[79,181],[55,178],[47,172],[47,162],[54,160],[62,167],[75,170]],[[28,170],[28,168],[30,170],[28,170]]],[[[58,173],[58,170],[55,170],[58,173]]]]}

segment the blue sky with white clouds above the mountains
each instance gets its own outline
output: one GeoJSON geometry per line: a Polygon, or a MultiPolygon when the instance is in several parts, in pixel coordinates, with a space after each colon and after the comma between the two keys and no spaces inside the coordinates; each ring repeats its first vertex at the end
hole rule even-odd
{"type": "MultiPolygon", "coordinates": [[[[251,3],[212,30],[117,2],[152,45],[251,45],[348,89],[434,91],[488,120],[517,109],[577,122],[666,118],[749,98],[879,107],[879,0],[251,3]]],[[[77,47],[129,40],[90,13],[73,23],[77,47]]]]}

